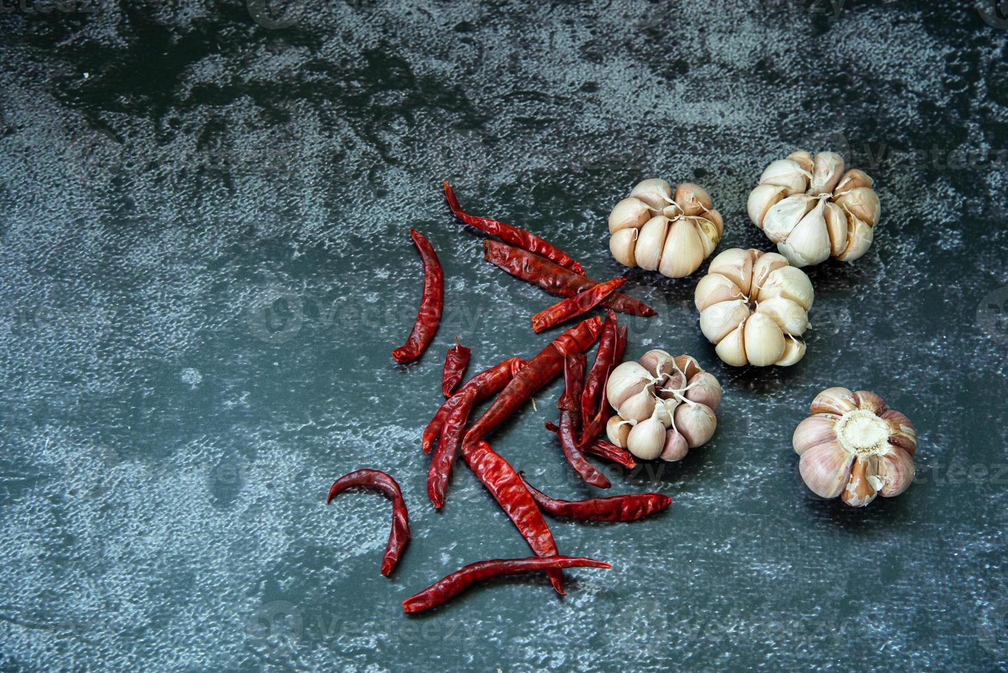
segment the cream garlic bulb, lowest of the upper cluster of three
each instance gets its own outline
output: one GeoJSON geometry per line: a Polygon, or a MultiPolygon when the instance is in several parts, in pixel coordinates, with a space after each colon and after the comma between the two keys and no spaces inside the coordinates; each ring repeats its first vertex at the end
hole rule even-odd
{"type": "Polygon", "coordinates": [[[812,284],[777,253],[732,248],[711,260],[694,301],[700,328],[729,365],[787,367],[805,355],[812,284]]]}

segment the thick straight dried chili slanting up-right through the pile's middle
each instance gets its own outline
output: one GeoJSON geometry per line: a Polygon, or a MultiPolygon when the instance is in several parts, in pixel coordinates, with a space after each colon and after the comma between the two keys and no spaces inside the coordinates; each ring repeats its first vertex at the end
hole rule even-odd
{"type": "Polygon", "coordinates": [[[554,339],[538,355],[528,361],[508,382],[490,408],[483,412],[466,433],[463,443],[475,442],[487,436],[507,420],[528,398],[553,380],[563,369],[563,357],[569,353],[584,353],[602,330],[602,319],[590,317],[554,339]]]}

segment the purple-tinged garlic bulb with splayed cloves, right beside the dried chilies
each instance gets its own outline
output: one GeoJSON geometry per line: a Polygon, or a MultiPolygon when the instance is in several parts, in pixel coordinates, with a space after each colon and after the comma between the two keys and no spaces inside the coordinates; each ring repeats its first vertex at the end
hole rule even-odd
{"type": "Polygon", "coordinates": [[[606,434],[643,460],[681,460],[714,435],[721,392],[718,380],[691,357],[648,351],[609,375],[606,399],[617,414],[606,434]]]}

